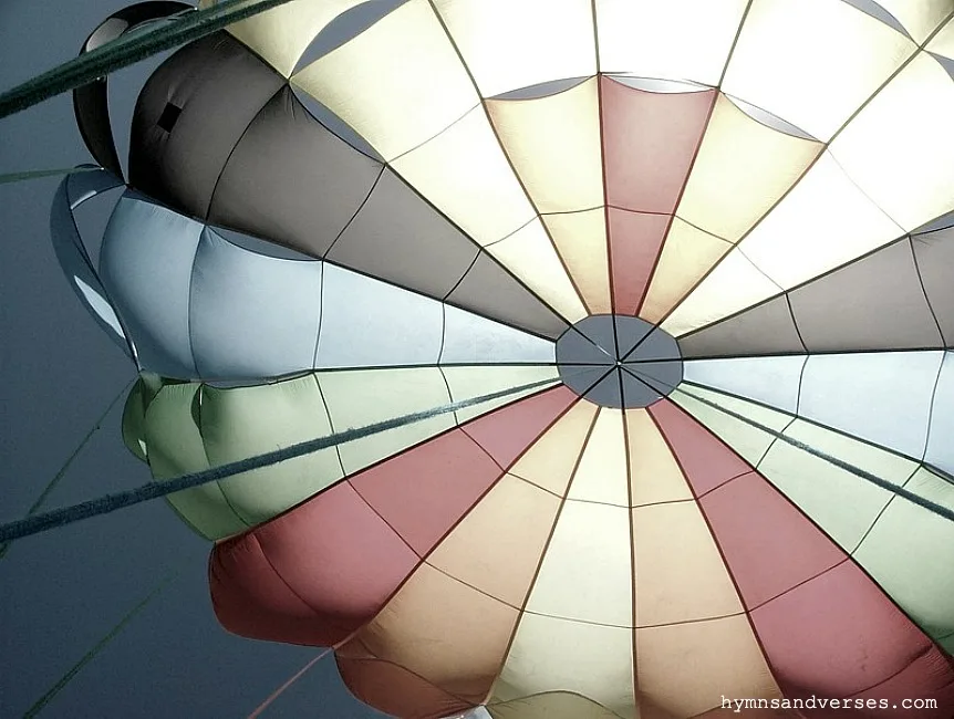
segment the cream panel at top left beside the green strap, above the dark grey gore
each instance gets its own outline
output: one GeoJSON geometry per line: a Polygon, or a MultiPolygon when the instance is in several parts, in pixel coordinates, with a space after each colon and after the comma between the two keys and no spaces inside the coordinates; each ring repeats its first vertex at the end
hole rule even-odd
{"type": "MultiPolygon", "coordinates": [[[[342,12],[363,1],[295,0],[235,22],[228,31],[288,77],[315,35],[342,12]]],[[[214,4],[217,0],[199,0],[199,8],[214,4]]]]}

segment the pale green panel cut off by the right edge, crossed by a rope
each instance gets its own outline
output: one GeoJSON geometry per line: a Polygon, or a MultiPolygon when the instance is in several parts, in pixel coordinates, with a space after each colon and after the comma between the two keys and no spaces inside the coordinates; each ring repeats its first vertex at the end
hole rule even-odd
{"type": "MultiPolygon", "coordinates": [[[[905,489],[954,510],[954,486],[924,468],[905,489]]],[[[954,522],[896,497],[854,559],[927,634],[954,646],[954,522]]]]}

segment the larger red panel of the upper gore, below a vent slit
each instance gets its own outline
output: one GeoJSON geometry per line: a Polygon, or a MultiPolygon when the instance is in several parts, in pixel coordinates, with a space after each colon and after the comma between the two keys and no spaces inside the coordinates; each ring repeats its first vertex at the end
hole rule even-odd
{"type": "Polygon", "coordinates": [[[600,77],[606,202],[672,215],[716,93],[654,93],[600,77]]]}

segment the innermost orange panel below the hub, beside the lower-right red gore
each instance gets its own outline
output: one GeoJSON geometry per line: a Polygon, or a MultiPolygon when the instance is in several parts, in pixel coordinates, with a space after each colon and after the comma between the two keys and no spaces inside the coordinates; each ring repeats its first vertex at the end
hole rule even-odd
{"type": "Polygon", "coordinates": [[[692,499],[673,452],[645,409],[626,410],[626,445],[633,507],[692,499]]]}

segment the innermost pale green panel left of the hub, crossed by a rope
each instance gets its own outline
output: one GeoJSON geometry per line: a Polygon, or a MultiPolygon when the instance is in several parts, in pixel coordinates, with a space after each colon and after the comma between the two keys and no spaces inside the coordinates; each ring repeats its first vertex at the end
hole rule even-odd
{"type": "MultiPolygon", "coordinates": [[[[450,396],[454,402],[473,399],[545,379],[552,379],[554,383],[559,379],[559,369],[556,365],[474,365],[466,367],[444,367],[443,372],[447,378],[447,385],[450,387],[450,396]]],[[[499,399],[491,399],[473,407],[458,409],[454,415],[457,423],[463,424],[480,415],[486,415],[492,409],[515,403],[527,395],[542,392],[542,389],[543,387],[525,389],[523,392],[507,395],[499,399]]]]}

